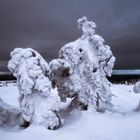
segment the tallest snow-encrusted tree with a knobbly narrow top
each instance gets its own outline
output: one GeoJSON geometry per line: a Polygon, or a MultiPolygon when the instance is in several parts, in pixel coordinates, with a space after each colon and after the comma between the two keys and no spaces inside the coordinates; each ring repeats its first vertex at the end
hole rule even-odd
{"type": "Polygon", "coordinates": [[[104,111],[111,107],[106,76],[111,76],[115,57],[104,39],[95,34],[94,22],[83,17],[78,27],[82,37],[62,47],[59,58],[50,62],[51,80],[62,101],[74,97],[79,106],[104,111]]]}

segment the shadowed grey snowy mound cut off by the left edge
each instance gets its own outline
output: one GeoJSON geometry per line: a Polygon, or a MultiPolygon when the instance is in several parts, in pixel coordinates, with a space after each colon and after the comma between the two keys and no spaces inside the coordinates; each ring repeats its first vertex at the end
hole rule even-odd
{"type": "Polygon", "coordinates": [[[0,127],[13,127],[19,125],[21,112],[0,99],[0,127]]]}

